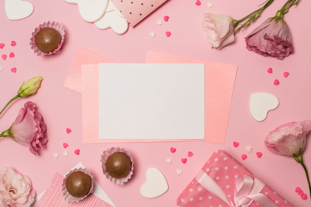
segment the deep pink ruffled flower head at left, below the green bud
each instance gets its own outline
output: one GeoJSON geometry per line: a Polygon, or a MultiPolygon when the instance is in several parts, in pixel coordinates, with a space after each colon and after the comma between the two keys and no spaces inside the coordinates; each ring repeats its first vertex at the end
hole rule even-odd
{"type": "Polygon", "coordinates": [[[11,127],[2,132],[0,137],[10,137],[17,143],[29,146],[29,151],[37,155],[36,150],[45,149],[47,127],[43,117],[37,111],[37,106],[31,101],[24,104],[18,112],[11,127]]]}

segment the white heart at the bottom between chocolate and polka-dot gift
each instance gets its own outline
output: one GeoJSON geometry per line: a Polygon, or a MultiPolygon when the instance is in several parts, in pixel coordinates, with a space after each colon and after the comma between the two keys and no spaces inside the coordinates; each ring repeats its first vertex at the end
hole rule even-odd
{"type": "Polygon", "coordinates": [[[162,172],[155,168],[149,168],[146,172],[146,183],[141,187],[141,194],[145,198],[156,198],[168,190],[166,179],[162,172]]]}

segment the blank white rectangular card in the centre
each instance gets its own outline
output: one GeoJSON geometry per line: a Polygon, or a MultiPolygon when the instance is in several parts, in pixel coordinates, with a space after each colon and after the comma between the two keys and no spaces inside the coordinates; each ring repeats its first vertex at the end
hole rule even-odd
{"type": "Polygon", "coordinates": [[[204,64],[100,64],[100,139],[204,139],[204,64]]]}

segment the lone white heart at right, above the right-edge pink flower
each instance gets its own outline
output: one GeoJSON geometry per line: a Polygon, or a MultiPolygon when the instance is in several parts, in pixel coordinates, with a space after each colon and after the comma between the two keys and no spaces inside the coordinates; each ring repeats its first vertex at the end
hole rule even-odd
{"type": "Polygon", "coordinates": [[[279,106],[279,103],[279,99],[271,93],[253,93],[249,102],[250,113],[256,121],[261,122],[267,118],[270,110],[279,106]]]}

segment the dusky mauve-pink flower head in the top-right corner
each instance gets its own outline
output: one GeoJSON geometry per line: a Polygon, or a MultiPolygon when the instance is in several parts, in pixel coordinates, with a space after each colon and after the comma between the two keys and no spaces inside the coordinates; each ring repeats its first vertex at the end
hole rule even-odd
{"type": "Polygon", "coordinates": [[[246,48],[262,56],[283,59],[294,52],[290,30],[280,18],[268,18],[245,37],[246,48]]]}

